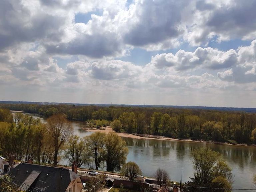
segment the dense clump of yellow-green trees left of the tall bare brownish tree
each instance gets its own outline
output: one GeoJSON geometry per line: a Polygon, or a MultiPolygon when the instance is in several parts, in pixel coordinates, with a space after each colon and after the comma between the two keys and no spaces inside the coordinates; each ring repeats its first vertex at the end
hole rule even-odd
{"type": "Polygon", "coordinates": [[[45,124],[32,116],[0,109],[0,154],[16,160],[29,156],[44,163],[52,163],[54,148],[49,145],[45,124]]]}

